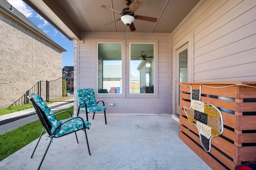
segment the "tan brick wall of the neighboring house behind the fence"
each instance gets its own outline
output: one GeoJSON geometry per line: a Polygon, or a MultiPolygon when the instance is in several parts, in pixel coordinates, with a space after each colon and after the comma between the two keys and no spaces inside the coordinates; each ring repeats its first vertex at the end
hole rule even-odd
{"type": "Polygon", "coordinates": [[[0,12],[0,108],[62,76],[62,51],[0,12]]]}

